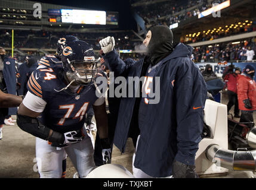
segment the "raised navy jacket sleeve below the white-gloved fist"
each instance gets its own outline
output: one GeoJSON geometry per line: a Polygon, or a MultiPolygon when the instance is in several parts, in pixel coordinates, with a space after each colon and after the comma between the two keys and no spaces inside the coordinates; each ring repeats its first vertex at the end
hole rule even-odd
{"type": "Polygon", "coordinates": [[[115,49],[104,55],[104,59],[107,60],[110,71],[115,72],[115,77],[124,75],[124,73],[127,72],[127,70],[135,63],[134,61],[125,64],[125,62],[119,58],[115,49]]]}

